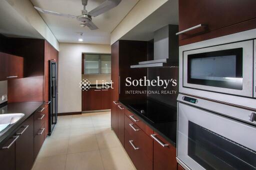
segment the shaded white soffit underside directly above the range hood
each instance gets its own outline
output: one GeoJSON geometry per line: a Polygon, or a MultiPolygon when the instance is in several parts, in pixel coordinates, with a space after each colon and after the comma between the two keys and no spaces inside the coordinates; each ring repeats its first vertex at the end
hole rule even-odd
{"type": "Polygon", "coordinates": [[[148,41],[153,32],[167,24],[178,25],[178,0],[168,0],[121,37],[125,40],[148,41]]]}

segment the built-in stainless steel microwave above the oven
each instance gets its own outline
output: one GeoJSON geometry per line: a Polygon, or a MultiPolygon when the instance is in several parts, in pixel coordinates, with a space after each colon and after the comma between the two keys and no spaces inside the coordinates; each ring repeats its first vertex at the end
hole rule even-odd
{"type": "Polygon", "coordinates": [[[256,109],[256,29],[179,47],[179,93],[256,109]]]}

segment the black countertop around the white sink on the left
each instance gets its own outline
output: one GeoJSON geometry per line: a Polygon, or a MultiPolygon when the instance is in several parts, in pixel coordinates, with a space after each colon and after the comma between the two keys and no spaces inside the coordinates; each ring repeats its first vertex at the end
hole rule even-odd
{"type": "Polygon", "coordinates": [[[8,103],[0,107],[0,114],[23,113],[24,116],[10,127],[2,136],[0,136],[0,143],[8,137],[16,128],[18,128],[31,114],[33,114],[43,102],[21,102],[8,103]],[[2,113],[2,110],[4,113],[2,113]]]}

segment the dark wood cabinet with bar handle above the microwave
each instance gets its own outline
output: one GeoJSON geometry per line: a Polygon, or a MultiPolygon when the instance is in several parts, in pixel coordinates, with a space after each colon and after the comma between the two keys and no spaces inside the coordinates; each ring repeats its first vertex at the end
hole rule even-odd
{"type": "Polygon", "coordinates": [[[255,0],[179,0],[179,45],[256,28],[255,0]],[[188,14],[192,13],[192,15],[188,14]]]}

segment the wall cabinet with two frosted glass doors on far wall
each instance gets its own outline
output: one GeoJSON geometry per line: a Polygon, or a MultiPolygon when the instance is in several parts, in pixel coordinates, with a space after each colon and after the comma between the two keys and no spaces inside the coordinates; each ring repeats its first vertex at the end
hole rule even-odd
{"type": "Polygon", "coordinates": [[[82,74],[110,74],[110,54],[83,54],[82,74]]]}

